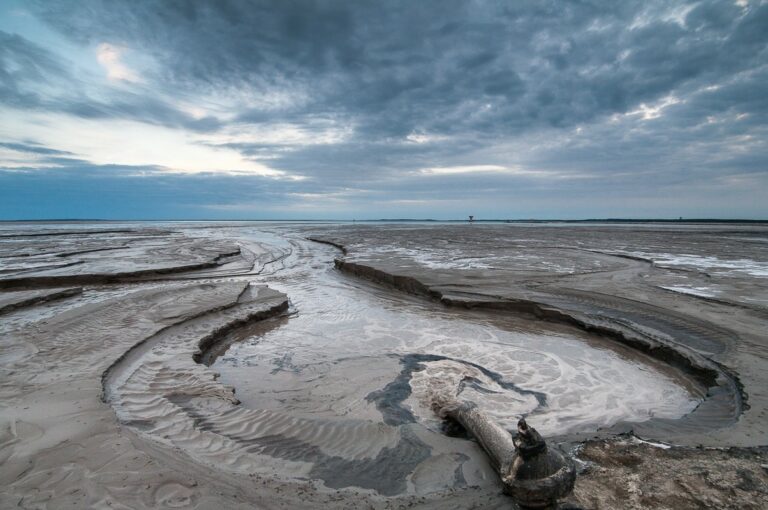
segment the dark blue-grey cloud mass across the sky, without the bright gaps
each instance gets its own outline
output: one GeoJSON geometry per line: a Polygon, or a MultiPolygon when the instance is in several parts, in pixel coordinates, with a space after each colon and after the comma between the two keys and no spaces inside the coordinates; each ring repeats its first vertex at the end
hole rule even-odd
{"type": "MultiPolygon", "coordinates": [[[[122,45],[155,64],[137,92],[46,107],[220,134],[348,128],[322,143],[207,142],[308,177],[275,184],[283,193],[647,195],[768,169],[764,3],[72,0],[35,12],[80,44],[122,45]],[[202,119],[158,99],[232,91],[252,100],[202,119]],[[420,171],[473,164],[528,173],[420,171]]],[[[3,62],[27,64],[4,101],[34,104],[22,80],[71,78],[45,51],[6,39],[3,62]]]]}

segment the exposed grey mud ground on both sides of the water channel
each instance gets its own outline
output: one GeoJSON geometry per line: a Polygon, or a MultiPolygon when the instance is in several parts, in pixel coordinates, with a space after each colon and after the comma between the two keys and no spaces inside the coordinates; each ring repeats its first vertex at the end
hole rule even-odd
{"type": "MultiPolygon", "coordinates": [[[[465,227],[294,233],[343,248],[336,265],[345,273],[452,307],[591,330],[705,388],[683,418],[555,438],[582,461],[574,502],[768,505],[766,232],[641,230],[617,246],[610,229],[465,227]]],[[[285,253],[228,237],[143,227],[2,232],[0,507],[512,507],[492,476],[386,494],[338,475],[342,488],[333,488],[329,472],[365,472],[373,468],[360,459],[388,451],[405,462],[417,439],[361,424],[349,434],[365,444],[343,434],[332,442],[314,422],[239,405],[198,361],[244,326],[284,315],[290,296],[264,276],[285,253]],[[313,446],[321,440],[322,452],[313,446]],[[303,456],[290,457],[289,446],[303,456]],[[313,476],[318,466],[325,482],[313,476]]]]}

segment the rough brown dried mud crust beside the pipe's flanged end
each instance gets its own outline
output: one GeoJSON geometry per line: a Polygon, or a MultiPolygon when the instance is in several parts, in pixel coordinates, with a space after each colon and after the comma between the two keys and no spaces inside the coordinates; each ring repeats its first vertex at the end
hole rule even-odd
{"type": "Polygon", "coordinates": [[[589,441],[570,501],[594,510],[768,508],[768,447],[659,448],[631,438],[589,441]]]}

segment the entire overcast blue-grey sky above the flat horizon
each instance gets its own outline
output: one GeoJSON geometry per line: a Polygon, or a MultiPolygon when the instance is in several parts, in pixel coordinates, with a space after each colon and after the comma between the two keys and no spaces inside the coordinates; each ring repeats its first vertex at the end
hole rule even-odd
{"type": "Polygon", "coordinates": [[[768,2],[0,0],[0,219],[768,219],[768,2]]]}

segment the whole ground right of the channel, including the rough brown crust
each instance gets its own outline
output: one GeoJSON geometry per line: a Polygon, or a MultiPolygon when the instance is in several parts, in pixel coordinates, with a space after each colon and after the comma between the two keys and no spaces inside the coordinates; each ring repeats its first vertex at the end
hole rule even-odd
{"type": "Polygon", "coordinates": [[[580,503],[766,504],[765,226],[344,226],[313,236],[342,251],[336,266],[349,274],[449,307],[573,324],[639,349],[707,387],[699,405],[680,418],[577,434],[578,441],[590,438],[579,454],[587,461],[577,484],[580,503]],[[647,444],[594,439],[617,434],[675,446],[651,454],[647,444]],[[594,455],[596,449],[616,457],[594,455]],[[633,461],[618,469],[627,451],[633,461]]]}

